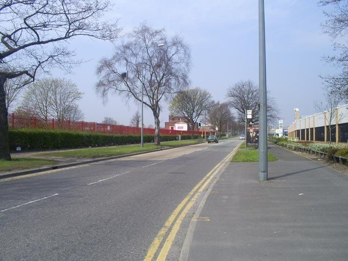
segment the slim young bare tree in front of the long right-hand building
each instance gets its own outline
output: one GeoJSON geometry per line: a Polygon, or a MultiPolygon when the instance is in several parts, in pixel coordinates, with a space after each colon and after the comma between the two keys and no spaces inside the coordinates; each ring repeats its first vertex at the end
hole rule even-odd
{"type": "MultiPolygon", "coordinates": [[[[341,99],[337,92],[332,92],[330,89],[325,90],[323,100],[314,101],[314,108],[319,112],[324,112],[324,118],[328,122],[330,137],[329,143],[332,142],[332,130],[336,127],[336,124],[333,124],[333,122],[336,119],[336,108],[338,107],[340,101],[341,99]]],[[[338,118],[341,117],[342,115],[338,115],[338,118]]]]}

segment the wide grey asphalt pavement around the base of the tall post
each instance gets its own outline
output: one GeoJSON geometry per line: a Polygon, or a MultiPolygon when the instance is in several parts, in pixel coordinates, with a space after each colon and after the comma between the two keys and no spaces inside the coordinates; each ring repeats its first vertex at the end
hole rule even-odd
{"type": "Polygon", "coordinates": [[[230,163],[195,227],[188,260],[348,260],[348,176],[271,145],[257,163],[230,163]]]}

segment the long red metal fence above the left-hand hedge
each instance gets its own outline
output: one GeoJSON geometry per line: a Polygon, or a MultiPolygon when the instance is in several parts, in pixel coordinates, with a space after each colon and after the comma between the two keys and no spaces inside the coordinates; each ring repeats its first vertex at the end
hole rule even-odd
{"type": "MultiPolygon", "coordinates": [[[[140,135],[141,128],[115,125],[107,123],[96,123],[86,121],[61,121],[56,119],[42,120],[36,117],[28,117],[23,115],[17,115],[14,113],[8,116],[9,128],[32,128],[32,129],[47,129],[47,130],[74,130],[77,132],[97,132],[114,135],[140,135]]],[[[190,135],[190,130],[173,130],[164,129],[160,130],[162,135],[190,135]]],[[[202,132],[194,132],[195,135],[201,135],[202,132]]],[[[144,128],[144,135],[155,135],[154,128],[144,128]]]]}

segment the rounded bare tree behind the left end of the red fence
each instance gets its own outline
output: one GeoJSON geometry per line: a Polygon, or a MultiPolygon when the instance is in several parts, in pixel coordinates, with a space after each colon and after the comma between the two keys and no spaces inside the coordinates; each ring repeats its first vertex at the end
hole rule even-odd
{"type": "Polygon", "coordinates": [[[75,83],[66,79],[45,78],[28,85],[20,107],[38,118],[47,121],[78,120],[83,118],[76,101],[82,98],[75,83]],[[82,117],[81,117],[82,116],[82,117]]]}

